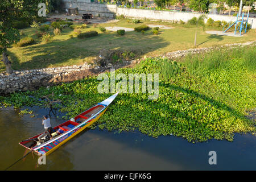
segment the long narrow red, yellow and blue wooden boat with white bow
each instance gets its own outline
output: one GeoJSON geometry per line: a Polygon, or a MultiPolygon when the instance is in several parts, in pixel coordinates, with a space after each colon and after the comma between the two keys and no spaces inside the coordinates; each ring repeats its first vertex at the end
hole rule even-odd
{"type": "Polygon", "coordinates": [[[93,107],[90,107],[90,109],[77,115],[75,118],[72,118],[71,120],[68,120],[54,127],[53,129],[59,132],[56,132],[52,139],[49,139],[44,143],[40,143],[40,136],[44,134],[41,133],[27,140],[23,140],[22,142],[19,142],[19,144],[28,150],[35,152],[37,155],[51,154],[51,152],[55,151],[64,143],[68,142],[68,140],[75,137],[81,131],[86,129],[86,127],[96,122],[101,117],[101,115],[105,113],[106,109],[108,109],[108,106],[115,99],[115,97],[117,97],[117,94],[118,93],[115,93],[113,96],[94,105],[93,107]]]}

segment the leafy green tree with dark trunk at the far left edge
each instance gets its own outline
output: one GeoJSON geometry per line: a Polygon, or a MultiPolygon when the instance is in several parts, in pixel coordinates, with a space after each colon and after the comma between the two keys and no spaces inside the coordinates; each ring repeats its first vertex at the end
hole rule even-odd
{"type": "Polygon", "coordinates": [[[1,0],[0,1],[0,54],[7,74],[13,73],[11,61],[8,58],[7,48],[19,41],[19,31],[12,28],[13,21],[19,18],[36,18],[38,15],[38,4],[49,0],[1,0]]]}

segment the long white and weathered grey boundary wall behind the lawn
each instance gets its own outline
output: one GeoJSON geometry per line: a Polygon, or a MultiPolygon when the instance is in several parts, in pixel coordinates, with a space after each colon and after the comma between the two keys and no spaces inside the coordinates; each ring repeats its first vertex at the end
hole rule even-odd
{"type": "MultiPolygon", "coordinates": [[[[90,0],[63,0],[65,2],[65,7],[72,7],[79,9],[79,14],[82,13],[92,13],[94,16],[100,14],[100,16],[106,16],[109,18],[113,18],[114,15],[125,15],[126,17],[131,18],[147,18],[147,19],[155,19],[155,20],[183,20],[187,22],[189,19],[194,16],[199,17],[201,14],[196,13],[180,13],[173,11],[154,11],[154,10],[145,10],[145,9],[127,9],[122,7],[117,7],[116,5],[105,5],[98,3],[89,3],[90,0]],[[88,1],[88,2],[85,2],[88,1]]],[[[236,16],[225,16],[225,15],[216,15],[216,14],[206,14],[208,18],[212,18],[214,21],[216,20],[224,20],[226,22],[235,21],[236,16]]],[[[207,21],[207,20],[205,20],[207,21]]],[[[256,28],[256,18],[249,18],[249,23],[252,28],[256,28]],[[253,20],[253,23],[251,22],[253,20]]]]}

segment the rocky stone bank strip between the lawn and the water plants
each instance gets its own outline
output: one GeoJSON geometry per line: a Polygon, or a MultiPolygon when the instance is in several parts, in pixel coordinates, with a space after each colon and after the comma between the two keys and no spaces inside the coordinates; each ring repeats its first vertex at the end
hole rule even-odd
{"type": "MultiPolygon", "coordinates": [[[[236,46],[247,46],[252,45],[254,42],[246,42],[239,44],[226,44],[221,47],[236,47],[236,46]]],[[[218,47],[218,48],[221,48],[218,47]]],[[[201,52],[207,52],[215,49],[214,47],[209,48],[195,48],[184,51],[169,52],[160,57],[168,57],[169,59],[175,59],[188,55],[189,53],[196,54],[201,52]]],[[[98,59],[102,59],[100,55],[98,59]]],[[[108,60],[104,60],[108,63],[108,60]]],[[[138,60],[123,61],[118,64],[108,63],[104,67],[92,66],[84,63],[83,65],[73,65],[70,67],[58,67],[58,68],[43,68],[43,69],[32,69],[26,71],[14,71],[11,75],[6,75],[5,72],[0,73],[0,94],[9,94],[13,92],[24,92],[27,90],[35,90],[40,86],[53,85],[60,82],[69,82],[80,80],[87,76],[97,75],[98,73],[107,71],[110,68],[118,69],[126,67],[127,65],[139,63],[138,60]]]]}

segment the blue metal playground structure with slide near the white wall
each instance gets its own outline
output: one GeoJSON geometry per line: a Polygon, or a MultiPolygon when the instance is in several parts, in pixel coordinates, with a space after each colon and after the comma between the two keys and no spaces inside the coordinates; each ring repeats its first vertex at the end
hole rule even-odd
{"type": "Polygon", "coordinates": [[[248,20],[249,20],[249,13],[247,13],[247,19],[244,19],[246,17],[246,14],[242,13],[242,15],[240,16],[240,14],[237,14],[237,20],[235,22],[230,22],[228,24],[226,24],[226,26],[223,27],[222,32],[226,32],[229,30],[229,28],[233,27],[235,25],[235,30],[234,30],[234,34],[237,34],[237,31],[239,31],[239,34],[243,34],[246,33],[247,30],[247,24],[248,24],[248,20]],[[226,28],[228,27],[228,28],[226,28]],[[226,28],[226,29],[225,29],[226,28]]]}

